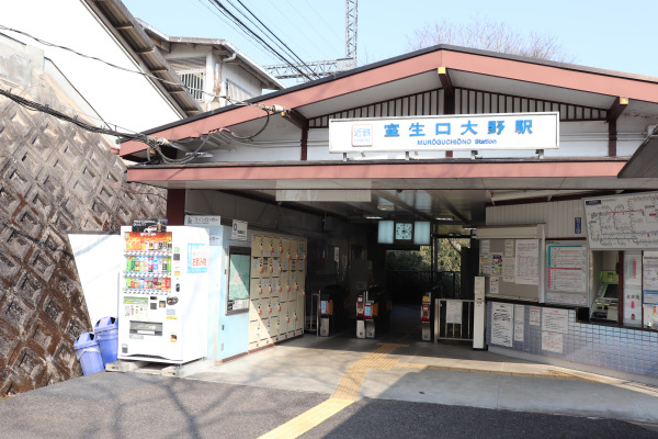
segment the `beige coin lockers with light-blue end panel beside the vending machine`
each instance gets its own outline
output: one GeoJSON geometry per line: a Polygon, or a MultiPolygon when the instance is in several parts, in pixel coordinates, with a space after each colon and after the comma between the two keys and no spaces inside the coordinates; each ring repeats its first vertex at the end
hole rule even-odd
{"type": "Polygon", "coordinates": [[[223,361],[304,334],[306,239],[188,215],[209,234],[207,358],[223,361]]]}

